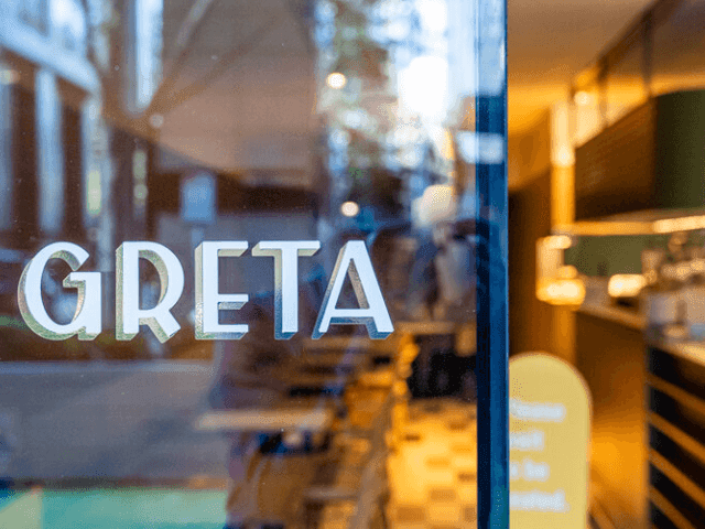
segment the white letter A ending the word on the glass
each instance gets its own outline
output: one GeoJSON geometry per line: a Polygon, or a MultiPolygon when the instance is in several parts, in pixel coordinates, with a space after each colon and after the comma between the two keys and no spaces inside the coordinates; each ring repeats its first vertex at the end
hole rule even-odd
{"type": "Polygon", "coordinates": [[[364,324],[372,339],[386,338],[394,332],[370,256],[361,240],[350,240],[340,248],[312,338],[317,339],[323,336],[332,323],[364,324]],[[335,305],[348,273],[360,307],[336,309],[335,305]]]}

